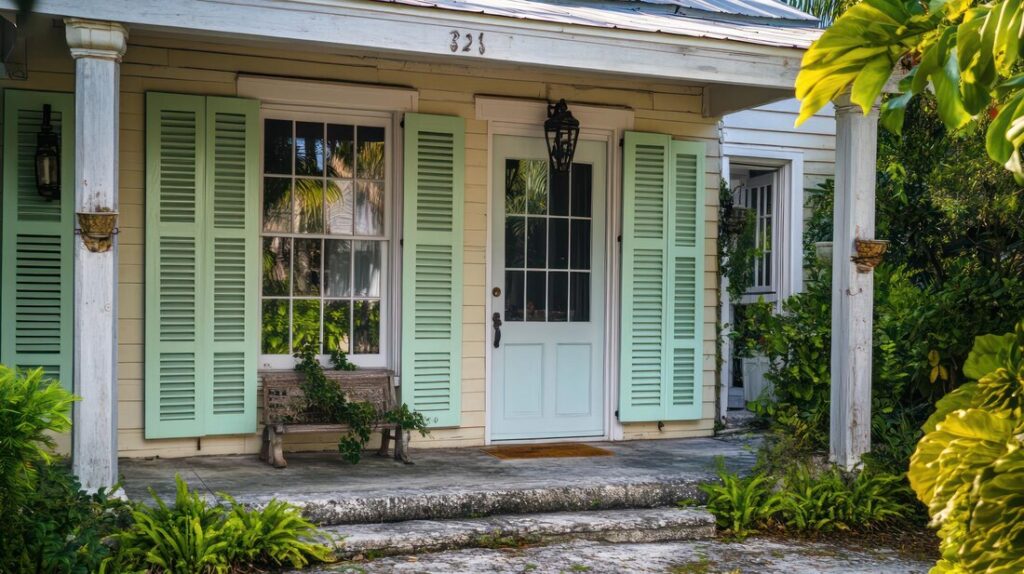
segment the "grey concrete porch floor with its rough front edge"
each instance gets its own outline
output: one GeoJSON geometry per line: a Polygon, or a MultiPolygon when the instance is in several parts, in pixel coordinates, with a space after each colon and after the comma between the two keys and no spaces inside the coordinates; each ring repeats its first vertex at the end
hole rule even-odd
{"type": "Polygon", "coordinates": [[[291,453],[287,469],[256,455],[122,459],[122,485],[136,500],[152,488],[174,496],[174,477],[209,495],[225,492],[246,503],[270,498],[305,507],[322,524],[391,522],[520,512],[558,512],[672,504],[699,497],[716,480],[716,458],[743,471],[756,461],[758,437],[592,442],[613,456],[501,460],[478,447],[417,449],[415,465],[379,458],[358,465],[337,452],[291,453]]]}

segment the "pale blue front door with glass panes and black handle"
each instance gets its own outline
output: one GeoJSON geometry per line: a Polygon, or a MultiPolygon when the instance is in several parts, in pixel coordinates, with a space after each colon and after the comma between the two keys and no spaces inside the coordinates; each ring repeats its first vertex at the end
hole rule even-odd
{"type": "Polygon", "coordinates": [[[605,434],[606,158],[582,140],[557,173],[543,138],[495,136],[493,440],[605,434]]]}

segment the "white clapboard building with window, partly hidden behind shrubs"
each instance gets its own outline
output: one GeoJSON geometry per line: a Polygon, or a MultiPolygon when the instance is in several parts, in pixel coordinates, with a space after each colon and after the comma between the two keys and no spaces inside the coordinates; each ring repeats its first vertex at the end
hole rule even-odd
{"type": "MultiPolygon", "coordinates": [[[[739,301],[730,301],[726,277],[721,284],[722,324],[736,320],[738,306],[759,300],[780,306],[799,293],[804,279],[804,191],[836,177],[836,121],[827,105],[800,128],[794,127],[800,102],[784,99],[722,118],[722,178],[736,206],[754,211],[755,240],[763,254],[754,280],[739,301]]],[[[741,409],[767,387],[767,360],[736,358],[728,338],[722,341],[719,413],[741,409]]]]}

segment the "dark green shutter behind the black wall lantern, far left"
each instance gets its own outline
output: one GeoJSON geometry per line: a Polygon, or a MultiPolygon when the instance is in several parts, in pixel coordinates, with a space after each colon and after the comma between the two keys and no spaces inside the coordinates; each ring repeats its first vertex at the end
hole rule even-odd
{"type": "Polygon", "coordinates": [[[4,91],[0,362],[43,367],[74,389],[75,96],[4,91]],[[60,138],[59,200],[36,190],[43,106],[60,138]]]}

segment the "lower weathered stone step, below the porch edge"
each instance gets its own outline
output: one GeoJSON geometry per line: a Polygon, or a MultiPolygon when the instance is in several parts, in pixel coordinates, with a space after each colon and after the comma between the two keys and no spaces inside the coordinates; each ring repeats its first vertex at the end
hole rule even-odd
{"type": "Polygon", "coordinates": [[[374,558],[567,540],[631,543],[698,540],[715,536],[715,517],[699,507],[659,507],[349,524],[332,526],[327,531],[340,538],[340,558],[374,558]]]}

